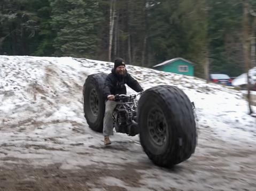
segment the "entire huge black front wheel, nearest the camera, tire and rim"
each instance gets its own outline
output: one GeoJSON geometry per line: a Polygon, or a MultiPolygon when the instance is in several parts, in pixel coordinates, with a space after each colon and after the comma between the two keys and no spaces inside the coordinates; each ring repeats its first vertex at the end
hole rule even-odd
{"type": "Polygon", "coordinates": [[[173,167],[195,152],[197,132],[192,104],[177,87],[147,89],[138,102],[138,126],[145,153],[161,167],[173,167]]]}

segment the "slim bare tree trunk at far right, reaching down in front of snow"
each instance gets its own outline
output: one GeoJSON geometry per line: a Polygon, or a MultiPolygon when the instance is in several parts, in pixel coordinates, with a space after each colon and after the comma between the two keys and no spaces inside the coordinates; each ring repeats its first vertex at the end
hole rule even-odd
{"type": "Polygon", "coordinates": [[[249,3],[247,0],[243,0],[243,50],[244,50],[244,61],[247,73],[247,99],[249,104],[249,114],[252,114],[251,108],[251,95],[250,95],[250,80],[249,80],[249,69],[250,69],[250,34],[249,34],[249,3]]]}

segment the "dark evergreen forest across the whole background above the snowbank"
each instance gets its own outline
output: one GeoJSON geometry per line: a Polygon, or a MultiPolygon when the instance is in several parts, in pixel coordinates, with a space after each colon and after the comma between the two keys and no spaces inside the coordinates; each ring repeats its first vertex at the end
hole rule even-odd
{"type": "Polygon", "coordinates": [[[245,43],[256,66],[255,12],[253,0],[1,0],[0,55],[122,57],[148,68],[183,57],[197,77],[236,77],[245,43]]]}

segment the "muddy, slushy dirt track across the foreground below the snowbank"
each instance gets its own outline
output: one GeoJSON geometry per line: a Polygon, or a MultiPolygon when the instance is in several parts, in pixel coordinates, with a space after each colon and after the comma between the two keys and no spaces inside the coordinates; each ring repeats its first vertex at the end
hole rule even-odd
{"type": "Polygon", "coordinates": [[[173,169],[152,164],[137,138],[116,134],[113,144],[106,147],[101,134],[75,123],[70,123],[70,129],[56,126],[64,135],[65,131],[71,134],[63,137],[46,138],[33,128],[27,129],[13,128],[16,131],[13,135],[2,129],[2,136],[6,135],[4,139],[9,139],[9,143],[2,142],[0,146],[0,190],[254,190],[256,187],[255,142],[226,142],[208,127],[201,127],[196,153],[173,169]]]}

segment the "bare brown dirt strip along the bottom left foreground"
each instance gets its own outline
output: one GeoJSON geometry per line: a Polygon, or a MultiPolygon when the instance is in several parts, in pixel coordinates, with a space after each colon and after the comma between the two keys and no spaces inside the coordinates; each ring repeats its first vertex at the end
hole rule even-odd
{"type": "MultiPolygon", "coordinates": [[[[7,159],[6,159],[7,160],[7,159]]],[[[17,161],[15,158],[8,159],[17,161]]],[[[18,159],[20,160],[20,159],[18,159]]],[[[129,187],[143,186],[139,183],[141,175],[135,170],[139,167],[129,165],[122,170],[103,169],[95,165],[81,167],[79,170],[63,170],[60,164],[35,168],[30,165],[7,164],[0,168],[0,190],[127,190],[119,186],[109,186],[100,182],[102,177],[114,177],[129,187]],[[133,176],[131,176],[133,175],[133,176]]]]}

